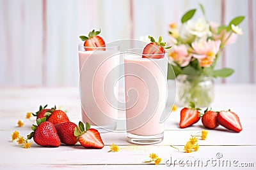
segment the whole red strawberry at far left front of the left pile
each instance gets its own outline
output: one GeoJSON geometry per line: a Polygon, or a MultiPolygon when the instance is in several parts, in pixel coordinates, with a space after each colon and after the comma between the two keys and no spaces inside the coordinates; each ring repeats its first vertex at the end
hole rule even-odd
{"type": "Polygon", "coordinates": [[[35,143],[40,146],[60,146],[60,138],[51,122],[45,122],[46,118],[38,118],[37,125],[32,125],[33,132],[27,136],[33,138],[35,143]]]}

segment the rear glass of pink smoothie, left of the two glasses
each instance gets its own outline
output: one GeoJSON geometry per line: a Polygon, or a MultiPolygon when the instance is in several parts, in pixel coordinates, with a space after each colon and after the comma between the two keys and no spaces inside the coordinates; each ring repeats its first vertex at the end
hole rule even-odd
{"type": "Polygon", "coordinates": [[[86,51],[79,45],[79,97],[83,122],[90,122],[99,132],[115,131],[117,121],[116,80],[114,69],[120,62],[119,46],[93,47],[86,51]]]}

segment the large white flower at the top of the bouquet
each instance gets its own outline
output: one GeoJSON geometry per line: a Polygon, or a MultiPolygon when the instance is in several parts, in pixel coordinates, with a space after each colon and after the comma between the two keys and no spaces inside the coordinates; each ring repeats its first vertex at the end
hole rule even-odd
{"type": "Polygon", "coordinates": [[[184,39],[186,43],[192,42],[195,39],[207,39],[211,36],[209,23],[205,18],[198,18],[196,21],[188,20],[180,29],[180,38],[184,39]]]}

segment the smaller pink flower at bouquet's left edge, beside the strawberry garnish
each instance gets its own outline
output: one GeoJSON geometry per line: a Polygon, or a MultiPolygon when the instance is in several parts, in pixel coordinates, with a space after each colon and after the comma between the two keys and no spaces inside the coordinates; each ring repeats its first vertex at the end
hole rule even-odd
{"type": "Polygon", "coordinates": [[[174,62],[177,62],[180,67],[185,67],[188,66],[192,56],[189,55],[186,45],[174,45],[169,50],[169,57],[174,62]]]}

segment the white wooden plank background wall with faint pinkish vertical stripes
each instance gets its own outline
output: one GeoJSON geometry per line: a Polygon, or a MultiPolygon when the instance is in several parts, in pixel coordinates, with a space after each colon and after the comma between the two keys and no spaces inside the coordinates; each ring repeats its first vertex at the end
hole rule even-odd
{"type": "Polygon", "coordinates": [[[222,82],[255,83],[253,0],[0,0],[0,86],[77,85],[79,35],[100,28],[106,42],[148,34],[168,41],[168,24],[199,3],[210,21],[246,16],[220,62],[236,72],[222,82]]]}

